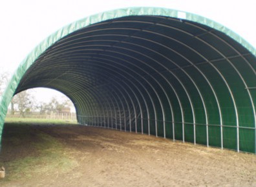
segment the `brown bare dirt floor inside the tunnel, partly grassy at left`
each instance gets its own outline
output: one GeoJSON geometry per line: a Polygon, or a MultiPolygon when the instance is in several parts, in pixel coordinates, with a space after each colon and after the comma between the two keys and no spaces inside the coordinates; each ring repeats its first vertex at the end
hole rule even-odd
{"type": "Polygon", "coordinates": [[[104,128],[5,124],[0,186],[256,186],[256,155],[104,128]]]}

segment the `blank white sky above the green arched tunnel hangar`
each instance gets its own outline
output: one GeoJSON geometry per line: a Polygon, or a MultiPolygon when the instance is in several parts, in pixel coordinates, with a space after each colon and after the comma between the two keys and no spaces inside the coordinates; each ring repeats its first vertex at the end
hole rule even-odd
{"type": "MultiPolygon", "coordinates": [[[[131,6],[159,6],[208,17],[241,35],[256,48],[255,0],[2,0],[0,71],[14,72],[37,44],[73,21],[131,6]]],[[[43,97],[44,101],[53,94],[42,90],[36,93],[37,99],[43,97]]]]}

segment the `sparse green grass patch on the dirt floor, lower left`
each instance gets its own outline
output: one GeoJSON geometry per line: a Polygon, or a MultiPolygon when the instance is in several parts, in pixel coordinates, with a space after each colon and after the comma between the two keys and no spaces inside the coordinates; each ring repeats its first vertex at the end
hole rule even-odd
{"type": "Polygon", "coordinates": [[[33,146],[39,150],[39,155],[9,162],[6,167],[11,172],[7,175],[7,180],[27,179],[32,175],[45,175],[45,173],[54,171],[58,171],[58,173],[68,172],[78,165],[76,161],[63,154],[65,153],[63,146],[54,138],[43,133],[38,136],[41,142],[33,143],[33,146]]]}

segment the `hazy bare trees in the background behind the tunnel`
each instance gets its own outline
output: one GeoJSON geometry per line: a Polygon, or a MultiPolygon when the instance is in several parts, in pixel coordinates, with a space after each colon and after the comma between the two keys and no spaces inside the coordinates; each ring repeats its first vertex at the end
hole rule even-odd
{"type": "MultiPolygon", "coordinates": [[[[3,95],[9,79],[10,73],[0,72],[0,97],[3,95]]],[[[39,114],[61,113],[63,108],[70,108],[71,106],[72,102],[69,99],[59,101],[56,97],[52,97],[48,102],[39,103],[34,98],[33,90],[25,90],[14,95],[8,110],[12,115],[19,113],[24,117],[26,113],[34,112],[39,114]]]]}

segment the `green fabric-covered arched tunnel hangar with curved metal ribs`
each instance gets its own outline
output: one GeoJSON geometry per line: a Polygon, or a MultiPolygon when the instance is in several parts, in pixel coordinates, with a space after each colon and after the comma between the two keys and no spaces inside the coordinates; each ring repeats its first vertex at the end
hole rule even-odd
{"type": "MultiPolygon", "coordinates": [[[[239,24],[239,23],[238,23],[239,24]]],[[[166,8],[76,21],[37,46],[1,100],[52,88],[79,124],[256,153],[256,50],[225,26],[166,8]]]]}

